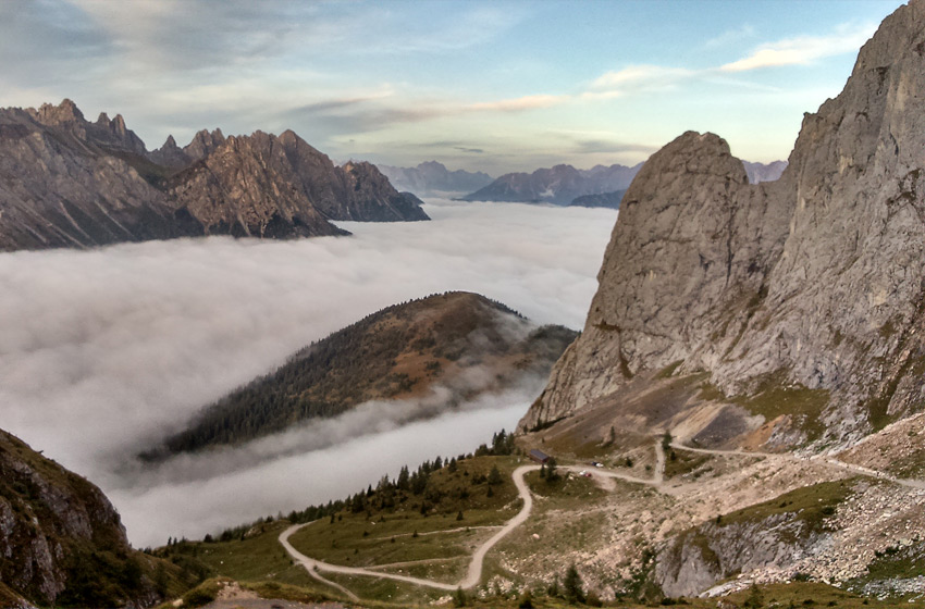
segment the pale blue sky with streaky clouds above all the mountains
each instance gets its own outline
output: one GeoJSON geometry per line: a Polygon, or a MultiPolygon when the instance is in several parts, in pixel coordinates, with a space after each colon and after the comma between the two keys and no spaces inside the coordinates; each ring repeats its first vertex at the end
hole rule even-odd
{"type": "Polygon", "coordinates": [[[786,159],[897,0],[8,0],[0,107],[73,99],[156,148],[292,128],[337,161],[497,176],[681,133],[786,159]]]}

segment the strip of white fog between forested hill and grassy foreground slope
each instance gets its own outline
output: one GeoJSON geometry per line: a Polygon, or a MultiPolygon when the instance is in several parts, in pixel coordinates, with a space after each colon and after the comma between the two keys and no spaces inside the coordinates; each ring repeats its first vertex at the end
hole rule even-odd
{"type": "Polygon", "coordinates": [[[138,546],[161,545],[168,535],[201,538],[261,515],[343,499],[375,486],[383,474],[394,478],[405,464],[471,452],[497,430],[514,428],[530,389],[541,387],[525,384],[411,423],[405,421],[416,403],[365,405],[242,449],[183,456],[133,486],[110,489],[109,497],[138,546]]]}

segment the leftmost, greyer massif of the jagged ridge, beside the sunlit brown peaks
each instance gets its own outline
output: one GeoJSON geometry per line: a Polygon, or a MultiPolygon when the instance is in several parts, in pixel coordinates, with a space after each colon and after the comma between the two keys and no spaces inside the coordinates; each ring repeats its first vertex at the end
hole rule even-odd
{"type": "Polygon", "coordinates": [[[100,124],[84,121],[67,100],[0,111],[0,250],[195,234],[175,221],[162,192],[98,144],[132,154],[132,136],[119,145],[119,129],[100,124]]]}

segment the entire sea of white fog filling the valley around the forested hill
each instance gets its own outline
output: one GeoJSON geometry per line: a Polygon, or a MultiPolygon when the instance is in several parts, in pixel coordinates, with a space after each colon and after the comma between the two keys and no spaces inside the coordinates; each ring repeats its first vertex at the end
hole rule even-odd
{"type": "Polygon", "coordinates": [[[526,380],[428,420],[369,403],[156,471],[133,456],[205,405],[383,307],[483,294],[581,328],[612,210],[430,200],[432,222],[338,223],[353,237],[209,237],[0,254],[0,428],[98,484],[136,546],[201,537],[345,497],[403,464],[513,428],[526,380]]]}

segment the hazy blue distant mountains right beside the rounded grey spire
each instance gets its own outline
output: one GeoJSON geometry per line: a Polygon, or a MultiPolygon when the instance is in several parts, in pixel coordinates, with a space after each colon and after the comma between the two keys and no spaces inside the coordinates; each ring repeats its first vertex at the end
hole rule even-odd
{"type": "Polygon", "coordinates": [[[571,165],[540,169],[531,174],[505,174],[484,188],[462,197],[466,201],[511,201],[567,206],[584,195],[603,195],[626,189],[642,163],[627,167],[597,165],[577,170],[571,165]]]}

